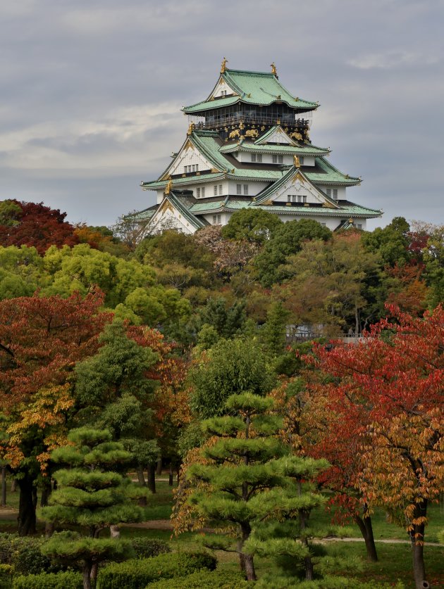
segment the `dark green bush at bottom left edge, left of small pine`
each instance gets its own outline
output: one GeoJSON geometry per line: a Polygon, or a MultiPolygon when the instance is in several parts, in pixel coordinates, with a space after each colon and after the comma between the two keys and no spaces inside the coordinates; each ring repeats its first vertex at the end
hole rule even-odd
{"type": "Polygon", "coordinates": [[[44,538],[22,538],[17,534],[0,534],[0,564],[11,564],[18,574],[55,573],[63,567],[42,555],[44,538]]]}

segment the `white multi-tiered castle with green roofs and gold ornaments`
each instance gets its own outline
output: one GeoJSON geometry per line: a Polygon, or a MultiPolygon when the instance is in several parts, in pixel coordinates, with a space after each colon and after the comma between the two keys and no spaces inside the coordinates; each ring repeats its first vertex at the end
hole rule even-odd
{"type": "Polygon", "coordinates": [[[332,231],[354,226],[381,210],[348,200],[361,178],[328,160],[329,148],[309,137],[319,103],[293,96],[271,72],[231,70],[224,58],[204,101],[183,108],[189,127],[183,145],[155,182],[156,205],[135,217],[144,234],[176,229],[192,234],[225,225],[236,210],[262,208],[280,220],[313,219],[332,231]]]}

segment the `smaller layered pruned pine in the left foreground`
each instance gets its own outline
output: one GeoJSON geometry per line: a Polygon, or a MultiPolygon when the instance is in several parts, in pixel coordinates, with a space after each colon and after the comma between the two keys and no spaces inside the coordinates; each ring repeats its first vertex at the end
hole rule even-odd
{"type": "Polygon", "coordinates": [[[99,534],[109,526],[140,521],[143,510],[133,501],[146,495],[147,490],[118,472],[131,455],[121,443],[111,441],[109,431],[83,427],[70,431],[68,439],[72,445],[51,454],[51,460],[67,468],[54,473],[57,489],[41,516],[58,526],[86,528],[86,533],[55,534],[42,552],[65,564],[80,564],[83,587],[90,589],[92,571],[95,576],[100,562],[132,556],[128,543],[99,538],[99,534]]]}

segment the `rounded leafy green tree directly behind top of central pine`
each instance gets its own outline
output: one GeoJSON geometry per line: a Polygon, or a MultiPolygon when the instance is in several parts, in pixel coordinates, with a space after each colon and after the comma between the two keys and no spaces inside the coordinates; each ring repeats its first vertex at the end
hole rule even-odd
{"type": "Polygon", "coordinates": [[[276,384],[266,357],[252,340],[221,340],[208,351],[208,360],[191,373],[190,406],[201,418],[223,413],[230,395],[252,391],[264,395],[276,384]]]}

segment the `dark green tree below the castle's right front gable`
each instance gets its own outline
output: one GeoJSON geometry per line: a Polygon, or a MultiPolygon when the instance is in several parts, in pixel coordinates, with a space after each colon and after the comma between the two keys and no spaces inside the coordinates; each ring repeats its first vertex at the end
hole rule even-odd
{"type": "Polygon", "coordinates": [[[262,286],[271,286],[288,277],[288,270],[285,270],[283,264],[289,255],[300,251],[304,241],[327,241],[330,238],[330,229],[310,219],[284,223],[254,259],[254,267],[262,286]]]}

